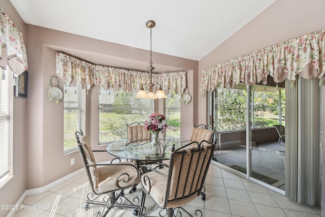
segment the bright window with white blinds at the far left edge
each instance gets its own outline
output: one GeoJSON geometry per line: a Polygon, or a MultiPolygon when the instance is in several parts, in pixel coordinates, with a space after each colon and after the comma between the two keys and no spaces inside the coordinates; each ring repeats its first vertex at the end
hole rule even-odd
{"type": "Polygon", "coordinates": [[[12,174],[13,154],[13,73],[5,75],[0,77],[0,180],[12,174]]]}

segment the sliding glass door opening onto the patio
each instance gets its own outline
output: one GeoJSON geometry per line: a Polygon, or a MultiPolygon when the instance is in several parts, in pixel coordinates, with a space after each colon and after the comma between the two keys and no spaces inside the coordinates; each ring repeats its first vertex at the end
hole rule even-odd
{"type": "Polygon", "coordinates": [[[279,144],[275,127],[285,127],[285,89],[279,86],[242,84],[213,91],[210,124],[217,131],[214,161],[284,190],[285,139],[279,144]]]}

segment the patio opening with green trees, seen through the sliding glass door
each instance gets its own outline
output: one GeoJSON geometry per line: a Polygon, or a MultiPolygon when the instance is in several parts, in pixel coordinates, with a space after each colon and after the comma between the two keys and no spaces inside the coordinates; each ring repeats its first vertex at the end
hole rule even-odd
{"type": "MultiPolygon", "coordinates": [[[[265,128],[284,122],[283,88],[255,85],[252,91],[251,128],[265,128]],[[280,101],[279,101],[280,99],[280,101]]],[[[218,132],[246,129],[246,86],[238,85],[238,89],[221,89],[213,92],[214,125],[218,132]]],[[[283,123],[282,123],[283,124],[283,123]]]]}

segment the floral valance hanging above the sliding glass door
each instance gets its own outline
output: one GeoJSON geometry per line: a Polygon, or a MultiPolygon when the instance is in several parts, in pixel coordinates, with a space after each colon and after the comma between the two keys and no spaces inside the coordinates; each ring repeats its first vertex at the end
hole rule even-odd
{"type": "Polygon", "coordinates": [[[239,82],[266,85],[268,75],[276,83],[285,79],[294,82],[299,75],[305,79],[318,78],[322,85],[325,73],[324,33],[325,29],[319,30],[202,70],[201,92],[218,87],[233,88],[239,82]]]}

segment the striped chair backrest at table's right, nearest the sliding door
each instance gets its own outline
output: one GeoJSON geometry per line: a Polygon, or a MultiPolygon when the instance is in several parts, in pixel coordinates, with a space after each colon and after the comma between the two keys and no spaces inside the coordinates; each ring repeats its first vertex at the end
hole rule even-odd
{"type": "Polygon", "coordinates": [[[196,141],[196,142],[201,142],[202,140],[209,141],[211,143],[214,143],[214,133],[215,130],[211,129],[210,126],[208,125],[199,125],[192,128],[191,135],[189,137],[190,141],[196,141]]]}

